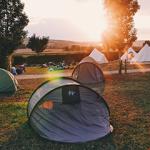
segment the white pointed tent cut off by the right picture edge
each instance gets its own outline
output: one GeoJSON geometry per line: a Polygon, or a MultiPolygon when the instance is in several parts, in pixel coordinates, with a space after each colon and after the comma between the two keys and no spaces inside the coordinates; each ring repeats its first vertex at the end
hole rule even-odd
{"type": "Polygon", "coordinates": [[[146,44],[140,52],[131,60],[131,63],[150,62],[150,47],[146,44]]]}

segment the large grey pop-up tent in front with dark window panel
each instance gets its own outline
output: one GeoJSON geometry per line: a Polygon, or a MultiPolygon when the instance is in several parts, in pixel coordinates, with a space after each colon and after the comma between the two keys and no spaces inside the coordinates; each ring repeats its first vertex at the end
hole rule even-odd
{"type": "Polygon", "coordinates": [[[104,99],[67,77],[40,85],[29,99],[27,113],[31,127],[51,141],[87,142],[111,132],[104,99]]]}

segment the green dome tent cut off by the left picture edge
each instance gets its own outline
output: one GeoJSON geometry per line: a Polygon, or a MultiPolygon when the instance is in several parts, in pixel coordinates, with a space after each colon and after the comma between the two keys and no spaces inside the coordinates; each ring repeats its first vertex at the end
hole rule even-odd
{"type": "Polygon", "coordinates": [[[0,68],[0,96],[11,96],[17,91],[18,82],[7,70],[0,68]]]}

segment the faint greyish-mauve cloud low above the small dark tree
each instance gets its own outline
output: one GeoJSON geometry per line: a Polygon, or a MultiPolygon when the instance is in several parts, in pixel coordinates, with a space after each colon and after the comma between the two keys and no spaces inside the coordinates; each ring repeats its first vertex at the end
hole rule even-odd
{"type": "Polygon", "coordinates": [[[38,36],[49,36],[50,39],[66,39],[73,41],[84,41],[86,34],[83,33],[71,22],[63,19],[41,19],[35,23],[29,24],[26,28],[29,36],[36,34],[38,36]]]}

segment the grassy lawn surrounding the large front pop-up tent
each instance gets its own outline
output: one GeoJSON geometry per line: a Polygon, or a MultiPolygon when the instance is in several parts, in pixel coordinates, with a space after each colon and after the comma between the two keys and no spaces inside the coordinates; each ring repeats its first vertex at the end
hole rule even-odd
{"type": "Polygon", "coordinates": [[[150,73],[106,76],[104,97],[114,132],[103,140],[63,144],[40,138],[29,126],[27,100],[46,79],[19,80],[21,89],[0,102],[1,150],[148,150],[150,148],[150,73]]]}

